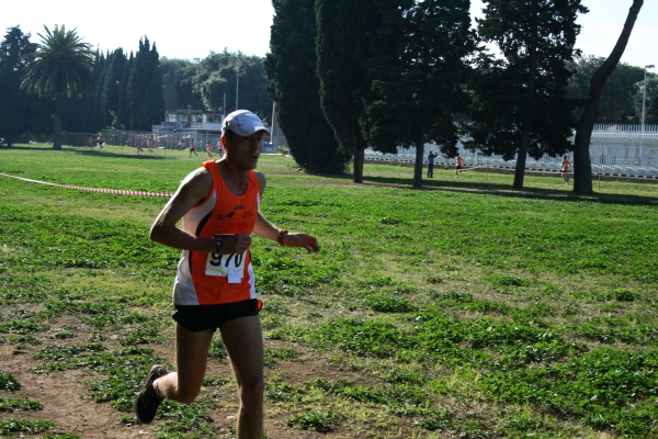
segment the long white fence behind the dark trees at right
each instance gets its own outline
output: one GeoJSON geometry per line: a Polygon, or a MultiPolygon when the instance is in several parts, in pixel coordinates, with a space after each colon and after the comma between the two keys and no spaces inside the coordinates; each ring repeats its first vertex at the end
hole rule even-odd
{"type": "MultiPolygon", "coordinates": [[[[501,156],[485,156],[470,153],[460,143],[460,155],[466,167],[491,166],[496,168],[515,168],[517,160],[503,160],[501,156]]],[[[424,160],[429,150],[436,151],[433,144],[424,145],[424,160]]],[[[569,161],[574,161],[572,153],[568,153],[569,161]]],[[[415,162],[416,148],[398,148],[398,154],[382,154],[368,148],[365,150],[366,160],[392,162],[415,162]]],[[[658,125],[646,125],[644,132],[640,125],[595,125],[590,140],[590,159],[592,172],[604,176],[639,177],[658,179],[658,125]]],[[[544,155],[538,160],[527,157],[527,170],[559,171],[561,157],[544,155]]],[[[452,166],[455,160],[436,157],[436,166],[452,166]]]]}

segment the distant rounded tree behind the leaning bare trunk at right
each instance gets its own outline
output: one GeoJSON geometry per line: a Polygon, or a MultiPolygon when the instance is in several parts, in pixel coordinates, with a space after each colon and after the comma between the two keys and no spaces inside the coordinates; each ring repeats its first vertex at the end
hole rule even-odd
{"type": "MultiPolygon", "coordinates": [[[[589,82],[605,61],[604,57],[582,56],[569,63],[574,70],[574,77],[569,81],[569,98],[581,102],[577,109],[577,116],[583,111],[585,102],[589,95],[589,82]]],[[[637,111],[635,100],[637,93],[637,81],[644,79],[642,67],[621,63],[616,66],[601,91],[601,104],[597,123],[637,123],[637,111]]]]}

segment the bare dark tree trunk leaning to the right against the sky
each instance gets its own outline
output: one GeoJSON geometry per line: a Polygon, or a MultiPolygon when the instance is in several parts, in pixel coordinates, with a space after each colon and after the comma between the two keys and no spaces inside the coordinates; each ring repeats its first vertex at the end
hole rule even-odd
{"type": "Polygon", "coordinates": [[[590,80],[590,92],[585,111],[578,121],[576,128],[576,138],[574,140],[574,192],[592,193],[592,162],[589,155],[589,145],[594,130],[594,122],[599,115],[599,102],[605,81],[612,75],[619,64],[631,32],[637,20],[637,14],[644,4],[644,0],[633,0],[633,5],[628,10],[624,29],[620,35],[614,48],[612,49],[605,63],[594,72],[590,80]]]}

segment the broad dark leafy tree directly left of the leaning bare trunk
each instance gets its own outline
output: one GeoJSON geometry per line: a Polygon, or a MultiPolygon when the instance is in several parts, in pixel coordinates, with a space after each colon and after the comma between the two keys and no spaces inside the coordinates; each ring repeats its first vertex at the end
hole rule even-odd
{"type": "Polygon", "coordinates": [[[470,85],[470,149],[517,156],[514,188],[523,187],[530,154],[561,154],[575,126],[567,97],[567,64],[586,13],[580,0],[484,0],[478,19],[483,41],[496,43],[502,59],[483,54],[470,85]]]}

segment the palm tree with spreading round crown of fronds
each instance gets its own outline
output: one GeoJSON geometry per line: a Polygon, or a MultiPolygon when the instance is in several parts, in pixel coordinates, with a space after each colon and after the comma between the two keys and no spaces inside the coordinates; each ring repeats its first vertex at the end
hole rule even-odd
{"type": "Polygon", "coordinates": [[[27,93],[48,97],[55,100],[55,133],[53,149],[61,149],[61,113],[65,94],[70,98],[77,93],[94,89],[92,68],[95,54],[91,45],[83,43],[76,29],[66,31],[55,24],[53,32],[44,25],[45,36],[36,52],[27,54],[34,60],[25,68],[21,88],[27,93]]]}

